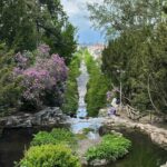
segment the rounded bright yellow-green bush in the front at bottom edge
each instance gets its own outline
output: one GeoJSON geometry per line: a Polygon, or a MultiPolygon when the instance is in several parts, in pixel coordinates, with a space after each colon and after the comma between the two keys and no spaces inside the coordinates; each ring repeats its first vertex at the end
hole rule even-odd
{"type": "Polygon", "coordinates": [[[18,167],[81,167],[79,159],[65,145],[31,147],[18,167]]]}

